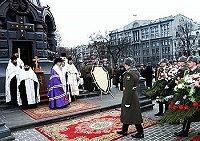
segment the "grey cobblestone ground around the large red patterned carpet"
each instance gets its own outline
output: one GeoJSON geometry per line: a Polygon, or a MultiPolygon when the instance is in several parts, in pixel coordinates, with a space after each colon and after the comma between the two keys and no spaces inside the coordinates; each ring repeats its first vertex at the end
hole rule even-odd
{"type": "MultiPolygon", "coordinates": [[[[142,115],[146,117],[150,117],[152,119],[158,120],[159,117],[155,117],[154,114],[157,113],[157,104],[155,104],[154,109],[151,111],[143,112],[142,115]]],[[[169,125],[166,124],[164,126],[154,125],[152,127],[144,129],[145,137],[143,139],[133,139],[131,135],[123,137],[118,141],[174,141],[175,136],[174,132],[181,130],[182,124],[179,125],[169,125]]],[[[193,122],[191,124],[191,129],[195,129],[195,132],[200,132],[200,123],[193,122]]],[[[33,129],[26,129],[22,131],[16,131],[12,133],[16,138],[15,141],[48,141],[46,137],[33,129]]]]}

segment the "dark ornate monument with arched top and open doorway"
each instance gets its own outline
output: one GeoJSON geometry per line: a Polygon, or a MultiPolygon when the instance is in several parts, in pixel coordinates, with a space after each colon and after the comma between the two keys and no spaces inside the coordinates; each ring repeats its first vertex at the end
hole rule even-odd
{"type": "MultiPolygon", "coordinates": [[[[17,52],[23,61],[32,63],[31,67],[32,59],[40,58],[43,78],[49,80],[50,58],[56,51],[55,31],[50,7],[42,7],[39,0],[0,0],[0,93],[5,93],[9,58],[17,52]]],[[[9,135],[1,131],[3,126],[0,124],[0,138],[9,135]]]]}

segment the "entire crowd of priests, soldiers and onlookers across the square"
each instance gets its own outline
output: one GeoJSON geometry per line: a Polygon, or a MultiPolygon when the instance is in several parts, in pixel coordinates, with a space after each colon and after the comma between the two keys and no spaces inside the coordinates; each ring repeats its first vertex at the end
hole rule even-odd
{"type": "MultiPolygon", "coordinates": [[[[47,94],[49,108],[67,107],[75,101],[76,96],[79,95],[81,79],[83,89],[90,92],[98,91],[91,76],[94,65],[99,64],[89,63],[78,71],[71,57],[56,58],[50,70],[47,94]]],[[[175,133],[176,136],[188,136],[190,123],[200,120],[198,106],[200,67],[197,56],[188,58],[181,56],[177,61],[163,58],[155,69],[150,64],[136,67],[131,57],[126,58],[123,65],[115,64],[113,68],[107,60],[103,60],[101,65],[108,72],[108,81],[123,91],[120,116],[123,126],[121,131],[117,131],[118,134],[127,135],[129,125],[135,124],[137,133],[132,137],[144,138],[137,94],[139,77],[144,77],[146,80],[144,95],[159,104],[159,111],[155,116],[161,116],[161,123],[173,124],[183,121],[183,128],[175,133]],[[187,111],[187,114],[184,114],[184,111],[187,111]],[[184,116],[180,117],[180,113],[184,116]]],[[[23,109],[36,108],[40,102],[39,88],[40,83],[29,62],[23,63],[18,54],[14,54],[6,69],[6,102],[21,106],[23,109]]]]}

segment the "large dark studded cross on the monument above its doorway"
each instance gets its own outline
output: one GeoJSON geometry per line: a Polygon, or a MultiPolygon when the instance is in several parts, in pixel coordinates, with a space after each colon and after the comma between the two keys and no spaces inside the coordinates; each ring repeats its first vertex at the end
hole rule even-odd
{"type": "Polygon", "coordinates": [[[17,30],[19,32],[20,38],[25,38],[25,31],[34,31],[34,24],[26,23],[25,16],[16,15],[17,22],[7,22],[8,29],[17,30]]]}

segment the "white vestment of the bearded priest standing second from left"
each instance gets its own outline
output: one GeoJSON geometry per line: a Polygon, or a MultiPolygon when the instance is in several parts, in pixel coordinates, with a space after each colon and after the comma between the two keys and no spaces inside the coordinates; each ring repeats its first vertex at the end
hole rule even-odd
{"type": "MultiPolygon", "coordinates": [[[[20,83],[25,80],[25,89],[26,89],[26,95],[27,95],[27,101],[28,105],[30,104],[36,104],[40,102],[40,83],[38,81],[37,75],[35,72],[29,68],[28,71],[25,71],[24,69],[21,69],[17,81],[17,87],[19,87],[20,83]],[[35,97],[35,88],[34,88],[34,82],[37,82],[37,96],[35,97]]],[[[20,95],[17,97],[18,105],[22,105],[22,100],[20,98],[20,95]]]]}

